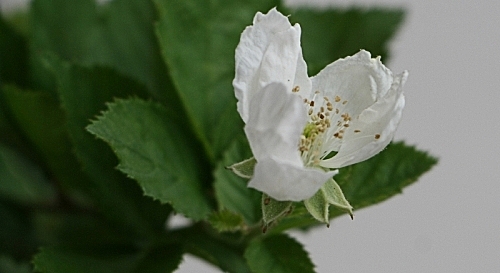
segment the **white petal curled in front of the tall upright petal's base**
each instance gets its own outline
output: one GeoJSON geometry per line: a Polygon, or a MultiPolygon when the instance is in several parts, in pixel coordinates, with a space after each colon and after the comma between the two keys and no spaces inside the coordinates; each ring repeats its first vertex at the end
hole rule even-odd
{"type": "Polygon", "coordinates": [[[302,166],[298,145],[307,123],[302,99],[282,83],[271,83],[256,92],[249,103],[245,133],[257,162],[275,156],[302,166]]]}

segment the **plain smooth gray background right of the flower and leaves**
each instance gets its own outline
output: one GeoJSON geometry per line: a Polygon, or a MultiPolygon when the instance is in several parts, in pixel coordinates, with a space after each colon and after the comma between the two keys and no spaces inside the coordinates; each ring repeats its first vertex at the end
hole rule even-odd
{"type": "MultiPolygon", "coordinates": [[[[10,2],[19,1],[0,0],[4,10],[10,2]]],[[[293,232],[317,271],[500,272],[500,1],[288,2],[408,10],[387,64],[410,71],[396,139],[440,157],[402,195],[356,211],[354,221],[293,232]]],[[[219,271],[188,256],[176,272],[219,271]]]]}

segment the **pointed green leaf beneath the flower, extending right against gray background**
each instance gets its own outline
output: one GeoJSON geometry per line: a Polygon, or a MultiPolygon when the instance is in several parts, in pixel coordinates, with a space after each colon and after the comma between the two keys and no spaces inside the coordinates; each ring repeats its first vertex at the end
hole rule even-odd
{"type": "MultiPolygon", "coordinates": [[[[437,159],[404,142],[390,144],[371,159],[340,169],[335,180],[347,200],[357,209],[380,203],[401,193],[402,189],[429,171],[437,159]]],[[[330,218],[344,214],[339,209],[330,210],[330,218]]],[[[279,222],[273,232],[293,227],[314,225],[315,220],[305,210],[295,209],[292,215],[279,222]]]]}

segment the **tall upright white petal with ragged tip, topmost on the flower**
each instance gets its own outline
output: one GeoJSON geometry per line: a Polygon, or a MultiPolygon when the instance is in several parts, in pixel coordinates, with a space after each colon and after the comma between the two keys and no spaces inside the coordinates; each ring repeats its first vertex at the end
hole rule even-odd
{"type": "MultiPolygon", "coordinates": [[[[238,112],[245,123],[249,102],[257,90],[271,82],[282,82],[291,91],[296,86],[295,78],[307,85],[309,79],[301,53],[300,33],[298,24],[292,26],[288,18],[274,8],[267,14],[257,13],[254,25],[241,34],[236,48],[233,86],[238,112]]],[[[310,86],[304,90],[307,88],[310,86]]]]}

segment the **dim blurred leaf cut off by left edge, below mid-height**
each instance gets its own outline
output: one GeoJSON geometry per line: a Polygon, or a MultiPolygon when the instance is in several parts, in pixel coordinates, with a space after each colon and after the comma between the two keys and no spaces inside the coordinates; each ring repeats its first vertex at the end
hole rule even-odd
{"type": "Polygon", "coordinates": [[[17,203],[50,203],[56,197],[40,168],[3,145],[0,145],[0,181],[0,197],[17,203]]]}

